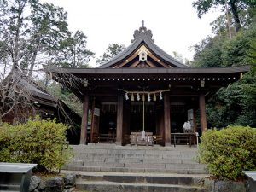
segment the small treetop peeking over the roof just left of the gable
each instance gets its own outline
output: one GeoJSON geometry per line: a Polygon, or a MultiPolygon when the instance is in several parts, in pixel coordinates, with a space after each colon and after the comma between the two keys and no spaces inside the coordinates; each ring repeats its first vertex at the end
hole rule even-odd
{"type": "Polygon", "coordinates": [[[125,45],[123,44],[109,44],[108,48],[103,53],[103,55],[96,60],[96,63],[98,65],[102,65],[104,62],[107,62],[110,59],[112,59],[115,55],[118,55],[124,49],[125,45]]]}

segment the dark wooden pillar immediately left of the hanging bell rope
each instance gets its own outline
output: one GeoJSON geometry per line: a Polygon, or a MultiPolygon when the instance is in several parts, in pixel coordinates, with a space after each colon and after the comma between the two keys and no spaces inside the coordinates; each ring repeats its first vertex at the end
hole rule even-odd
{"type": "Polygon", "coordinates": [[[116,119],[116,144],[122,145],[123,142],[123,113],[124,99],[121,93],[118,95],[117,103],[117,119],[116,119]]]}

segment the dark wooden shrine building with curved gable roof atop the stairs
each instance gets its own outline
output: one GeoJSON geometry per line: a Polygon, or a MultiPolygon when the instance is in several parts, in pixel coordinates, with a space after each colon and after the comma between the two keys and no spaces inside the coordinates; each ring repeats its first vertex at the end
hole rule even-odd
{"type": "Polygon", "coordinates": [[[80,144],[170,146],[172,136],[207,129],[206,97],[248,67],[189,67],[154,44],[142,25],[131,45],[100,67],[45,70],[83,102],[80,144]]]}

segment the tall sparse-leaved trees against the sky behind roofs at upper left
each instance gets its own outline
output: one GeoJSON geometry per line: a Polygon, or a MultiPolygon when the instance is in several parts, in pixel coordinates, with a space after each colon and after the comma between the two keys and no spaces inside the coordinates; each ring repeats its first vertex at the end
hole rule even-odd
{"type": "Polygon", "coordinates": [[[63,8],[38,0],[0,3],[0,57],[9,66],[20,67],[28,76],[43,63],[88,67],[94,53],[86,48],[84,32],[69,32],[63,8]]]}

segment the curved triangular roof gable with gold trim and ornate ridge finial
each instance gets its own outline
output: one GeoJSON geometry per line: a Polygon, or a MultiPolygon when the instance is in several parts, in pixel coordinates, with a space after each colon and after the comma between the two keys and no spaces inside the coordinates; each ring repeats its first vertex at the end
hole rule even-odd
{"type": "Polygon", "coordinates": [[[142,26],[136,30],[131,45],[98,68],[172,68],[188,67],[154,44],[152,32],[142,26]]]}

